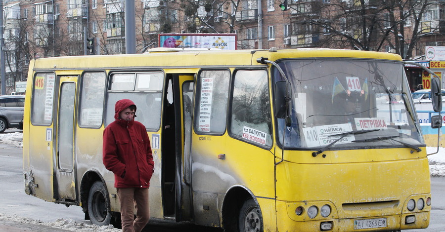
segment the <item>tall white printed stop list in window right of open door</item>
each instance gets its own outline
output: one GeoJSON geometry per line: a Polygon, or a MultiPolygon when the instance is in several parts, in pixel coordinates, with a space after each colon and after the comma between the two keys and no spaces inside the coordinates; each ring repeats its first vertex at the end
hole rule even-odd
{"type": "Polygon", "coordinates": [[[210,132],[213,78],[202,78],[201,102],[199,105],[199,131],[210,132]]]}

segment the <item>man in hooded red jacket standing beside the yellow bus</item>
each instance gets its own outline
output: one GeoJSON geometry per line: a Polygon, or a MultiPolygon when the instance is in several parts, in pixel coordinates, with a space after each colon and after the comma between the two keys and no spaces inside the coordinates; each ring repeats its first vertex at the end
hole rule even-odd
{"type": "Polygon", "coordinates": [[[140,232],[150,219],[148,187],[154,172],[150,140],[145,126],[134,120],[136,105],[133,101],[117,101],[114,111],[116,120],[103,131],[103,164],[114,173],[122,231],[140,232]]]}

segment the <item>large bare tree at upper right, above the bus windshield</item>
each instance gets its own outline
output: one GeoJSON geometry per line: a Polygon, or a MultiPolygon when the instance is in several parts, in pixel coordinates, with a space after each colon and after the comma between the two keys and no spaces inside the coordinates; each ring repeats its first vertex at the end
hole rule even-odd
{"type": "MultiPolygon", "coordinates": [[[[300,3],[300,4],[308,4],[300,3]]],[[[317,46],[385,51],[394,49],[403,58],[412,57],[419,39],[425,35],[420,25],[424,12],[435,2],[428,0],[333,0],[314,6],[294,21],[295,33],[310,28],[317,34],[317,46]],[[406,30],[406,26],[412,30],[406,30]],[[297,28],[297,30],[296,30],[297,28]]],[[[291,6],[294,10],[308,7],[291,6]]],[[[438,28],[429,28],[437,31],[438,28]]]]}

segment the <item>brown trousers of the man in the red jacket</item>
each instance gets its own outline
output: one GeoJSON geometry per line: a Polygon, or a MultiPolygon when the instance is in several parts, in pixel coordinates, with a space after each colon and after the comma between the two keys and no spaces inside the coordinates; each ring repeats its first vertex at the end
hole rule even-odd
{"type": "Polygon", "coordinates": [[[140,232],[150,219],[148,188],[118,188],[123,232],[140,232]],[[134,219],[136,207],[136,219],[134,219]]]}

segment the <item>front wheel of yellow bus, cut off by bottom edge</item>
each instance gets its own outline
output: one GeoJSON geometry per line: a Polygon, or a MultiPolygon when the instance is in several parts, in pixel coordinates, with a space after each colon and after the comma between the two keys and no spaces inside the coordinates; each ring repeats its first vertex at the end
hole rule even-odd
{"type": "Polygon", "coordinates": [[[254,199],[246,200],[239,211],[239,232],[263,232],[263,216],[254,199]]]}

